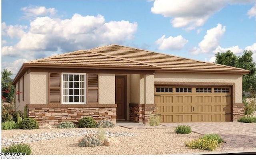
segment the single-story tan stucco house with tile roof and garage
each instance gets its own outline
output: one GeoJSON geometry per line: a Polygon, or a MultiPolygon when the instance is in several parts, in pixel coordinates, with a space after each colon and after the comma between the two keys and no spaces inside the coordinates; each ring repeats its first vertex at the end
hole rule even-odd
{"type": "Polygon", "coordinates": [[[84,116],[147,123],[233,121],[243,116],[241,68],[121,45],[31,60],[12,84],[16,109],[40,124],[84,116]]]}

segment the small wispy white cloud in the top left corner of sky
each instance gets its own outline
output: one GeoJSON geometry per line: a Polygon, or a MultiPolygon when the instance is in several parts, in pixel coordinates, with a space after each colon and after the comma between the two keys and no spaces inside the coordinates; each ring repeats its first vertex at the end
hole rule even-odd
{"type": "Polygon", "coordinates": [[[55,8],[45,8],[44,6],[28,6],[23,7],[21,10],[24,12],[26,18],[38,16],[54,16],[57,12],[55,8]]]}

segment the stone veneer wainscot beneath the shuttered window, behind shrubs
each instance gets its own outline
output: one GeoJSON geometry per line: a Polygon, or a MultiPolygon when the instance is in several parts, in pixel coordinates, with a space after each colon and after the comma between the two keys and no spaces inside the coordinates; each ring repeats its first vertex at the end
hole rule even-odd
{"type": "Polygon", "coordinates": [[[63,121],[78,122],[83,117],[91,116],[94,120],[110,118],[116,124],[116,104],[106,107],[33,107],[28,104],[28,117],[35,118],[40,125],[58,125],[63,121]]]}

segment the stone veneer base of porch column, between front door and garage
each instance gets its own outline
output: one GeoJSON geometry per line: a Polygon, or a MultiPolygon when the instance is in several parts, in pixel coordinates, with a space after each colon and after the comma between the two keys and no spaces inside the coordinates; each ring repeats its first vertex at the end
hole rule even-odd
{"type": "Polygon", "coordinates": [[[156,104],[134,104],[130,103],[130,121],[138,123],[149,123],[148,114],[156,112],[156,104]]]}

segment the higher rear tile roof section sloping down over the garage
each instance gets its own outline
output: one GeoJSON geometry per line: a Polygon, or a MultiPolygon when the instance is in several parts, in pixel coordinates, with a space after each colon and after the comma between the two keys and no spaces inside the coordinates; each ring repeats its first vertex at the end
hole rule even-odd
{"type": "Polygon", "coordinates": [[[192,71],[192,72],[241,72],[248,73],[248,70],[242,68],[235,68],[231,66],[224,66],[210,62],[203,62],[199,60],[192,60],[178,56],[150,52],[142,49],[131,48],[112,44],[98,48],[92,48],[89,51],[107,54],[111,56],[118,56],[128,58],[130,60],[137,60],[149,64],[154,64],[162,67],[161,70],[169,71],[192,71]]]}

